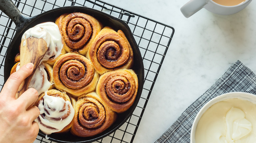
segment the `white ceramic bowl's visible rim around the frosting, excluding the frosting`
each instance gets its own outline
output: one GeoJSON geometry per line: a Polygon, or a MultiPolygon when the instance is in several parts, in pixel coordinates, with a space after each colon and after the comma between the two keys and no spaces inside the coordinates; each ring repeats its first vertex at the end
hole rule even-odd
{"type": "Polygon", "coordinates": [[[215,104],[217,102],[220,102],[220,101],[227,100],[227,99],[232,99],[232,98],[247,100],[247,101],[250,101],[250,102],[256,104],[256,95],[246,93],[246,92],[230,92],[230,93],[222,94],[220,96],[217,96],[217,97],[213,98],[212,100],[207,102],[202,107],[202,109],[198,112],[198,114],[197,114],[197,116],[196,116],[196,118],[193,122],[193,125],[192,125],[191,134],[190,134],[190,143],[196,143],[196,141],[195,141],[196,128],[197,128],[198,121],[202,117],[203,113],[209,107],[211,107],[213,104],[215,104]]]}

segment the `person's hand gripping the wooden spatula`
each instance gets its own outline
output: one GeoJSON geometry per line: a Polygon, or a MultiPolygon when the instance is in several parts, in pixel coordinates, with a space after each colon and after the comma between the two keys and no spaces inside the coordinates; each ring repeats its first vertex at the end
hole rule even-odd
{"type": "Polygon", "coordinates": [[[40,111],[33,106],[38,98],[34,88],[29,88],[18,99],[15,94],[33,71],[34,65],[28,63],[11,74],[0,93],[0,143],[32,143],[39,127],[34,120],[40,111]]]}

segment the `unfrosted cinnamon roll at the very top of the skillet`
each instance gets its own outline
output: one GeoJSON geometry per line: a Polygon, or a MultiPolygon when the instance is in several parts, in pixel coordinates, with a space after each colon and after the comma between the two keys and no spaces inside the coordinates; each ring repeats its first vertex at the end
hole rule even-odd
{"type": "Polygon", "coordinates": [[[74,12],[58,17],[55,24],[63,36],[63,45],[67,52],[85,55],[92,40],[101,30],[101,24],[92,16],[74,12]]]}

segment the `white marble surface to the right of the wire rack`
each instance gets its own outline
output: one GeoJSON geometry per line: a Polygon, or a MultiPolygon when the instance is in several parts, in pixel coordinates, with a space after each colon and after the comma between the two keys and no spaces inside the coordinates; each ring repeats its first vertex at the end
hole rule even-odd
{"type": "Polygon", "coordinates": [[[188,0],[104,0],[173,26],[175,33],[134,143],[155,142],[237,60],[256,73],[256,1],[228,16],[201,9],[185,18],[188,0]]]}

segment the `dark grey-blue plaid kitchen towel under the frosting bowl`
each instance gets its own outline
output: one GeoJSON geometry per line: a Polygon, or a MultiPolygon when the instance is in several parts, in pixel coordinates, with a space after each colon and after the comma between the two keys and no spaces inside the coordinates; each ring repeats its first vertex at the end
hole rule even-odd
{"type": "Polygon", "coordinates": [[[228,92],[256,94],[256,75],[240,61],[192,103],[155,143],[189,143],[191,127],[199,110],[214,97],[228,92]]]}

